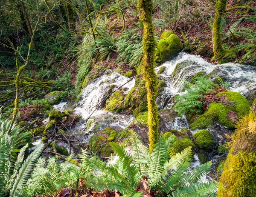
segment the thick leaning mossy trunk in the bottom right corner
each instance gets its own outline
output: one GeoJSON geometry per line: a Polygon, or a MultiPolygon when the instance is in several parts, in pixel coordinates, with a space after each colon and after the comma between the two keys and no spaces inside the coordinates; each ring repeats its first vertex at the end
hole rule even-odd
{"type": "Polygon", "coordinates": [[[218,197],[256,196],[256,99],[237,125],[218,189],[218,197]]]}

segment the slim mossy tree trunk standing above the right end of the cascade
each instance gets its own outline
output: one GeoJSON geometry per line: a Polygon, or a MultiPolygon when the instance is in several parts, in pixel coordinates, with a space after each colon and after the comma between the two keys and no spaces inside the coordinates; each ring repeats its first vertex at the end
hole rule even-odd
{"type": "Polygon", "coordinates": [[[216,60],[221,60],[224,56],[224,49],[221,44],[221,19],[226,10],[227,0],[217,0],[215,3],[215,16],[212,25],[212,45],[216,60]]]}

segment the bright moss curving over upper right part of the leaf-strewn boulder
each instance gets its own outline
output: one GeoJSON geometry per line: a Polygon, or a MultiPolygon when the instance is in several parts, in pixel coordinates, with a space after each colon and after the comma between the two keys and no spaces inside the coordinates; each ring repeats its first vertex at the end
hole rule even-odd
{"type": "Polygon", "coordinates": [[[234,102],[234,105],[230,105],[231,109],[235,111],[239,118],[244,117],[250,110],[250,103],[238,92],[225,91],[216,94],[216,97],[225,95],[230,101],[234,102]]]}

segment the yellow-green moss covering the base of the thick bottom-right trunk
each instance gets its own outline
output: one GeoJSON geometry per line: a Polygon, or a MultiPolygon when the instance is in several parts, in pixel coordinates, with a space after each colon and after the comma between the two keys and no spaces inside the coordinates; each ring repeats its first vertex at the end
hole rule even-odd
{"type": "Polygon", "coordinates": [[[256,154],[229,154],[218,188],[220,197],[256,196],[256,154]]]}

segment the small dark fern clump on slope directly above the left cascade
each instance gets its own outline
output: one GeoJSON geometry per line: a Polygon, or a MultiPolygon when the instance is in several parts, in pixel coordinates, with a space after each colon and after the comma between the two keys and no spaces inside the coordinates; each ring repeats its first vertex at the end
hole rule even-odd
{"type": "Polygon", "coordinates": [[[96,40],[97,48],[96,50],[99,50],[100,59],[105,60],[108,62],[111,54],[113,54],[116,51],[116,39],[109,34],[106,36],[99,38],[96,40]]]}

